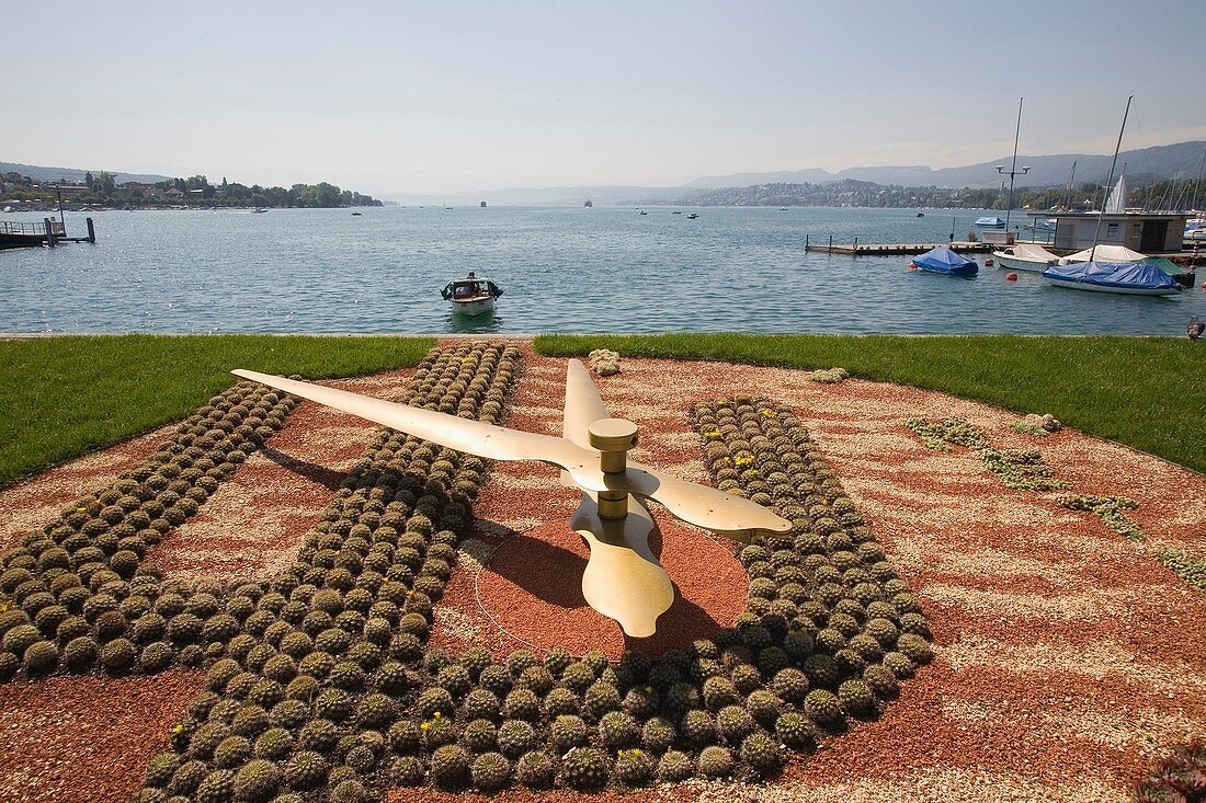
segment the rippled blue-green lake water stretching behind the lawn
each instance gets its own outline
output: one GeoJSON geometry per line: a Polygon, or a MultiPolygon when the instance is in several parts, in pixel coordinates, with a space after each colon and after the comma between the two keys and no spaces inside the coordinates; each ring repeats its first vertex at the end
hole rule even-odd
{"type": "MultiPolygon", "coordinates": [[[[806,235],[961,239],[980,210],[690,211],[94,212],[95,246],[0,251],[0,332],[1181,335],[1206,318],[1200,289],[1083,293],[997,268],[958,280],[911,271],[908,257],[804,253],[806,235]],[[505,291],[493,316],[452,315],[440,298],[470,269],[505,291]]],[[[83,217],[68,213],[70,233],[83,217]]]]}

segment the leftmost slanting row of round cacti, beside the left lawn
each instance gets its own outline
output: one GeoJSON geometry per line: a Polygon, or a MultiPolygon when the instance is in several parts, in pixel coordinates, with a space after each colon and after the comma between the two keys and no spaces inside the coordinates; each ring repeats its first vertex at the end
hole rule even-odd
{"type": "Polygon", "coordinates": [[[0,681],[66,669],[195,666],[239,622],[206,590],[163,582],[147,550],[277,432],[295,400],[253,382],[213,397],[112,485],[0,557],[0,681]]]}

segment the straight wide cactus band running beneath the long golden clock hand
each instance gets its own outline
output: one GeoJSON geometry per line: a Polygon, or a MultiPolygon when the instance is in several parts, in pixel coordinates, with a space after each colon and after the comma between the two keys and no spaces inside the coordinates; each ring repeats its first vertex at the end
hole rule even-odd
{"type": "MultiPolygon", "coordinates": [[[[519,356],[485,342],[435,350],[399,400],[499,423],[519,356]]],[[[426,643],[485,468],[379,430],[289,569],[228,603],[240,600],[244,627],[215,651],[209,691],[134,799],[364,801],[425,783],[429,762],[406,745],[449,738],[435,680],[469,682],[441,673],[426,643]]]]}

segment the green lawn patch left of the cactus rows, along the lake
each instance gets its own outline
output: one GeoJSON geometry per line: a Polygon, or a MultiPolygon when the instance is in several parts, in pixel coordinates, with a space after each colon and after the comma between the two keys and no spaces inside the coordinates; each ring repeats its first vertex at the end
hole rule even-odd
{"type": "Polygon", "coordinates": [[[432,338],[78,336],[0,341],[0,487],[188,416],[233,368],[308,379],[416,364],[432,338]]]}

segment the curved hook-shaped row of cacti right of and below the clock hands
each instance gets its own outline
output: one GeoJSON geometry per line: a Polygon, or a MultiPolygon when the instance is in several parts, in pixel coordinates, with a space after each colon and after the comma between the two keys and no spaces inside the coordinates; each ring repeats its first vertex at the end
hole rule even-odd
{"type": "MultiPolygon", "coordinates": [[[[334,745],[324,754],[332,762],[363,762],[381,789],[596,791],[762,778],[790,750],[874,717],[898,678],[931,657],[925,619],[798,422],[765,403],[753,418],[749,400],[742,406],[739,418],[725,410],[703,430],[709,464],[718,474],[739,468],[719,481],[775,505],[796,527],[742,551],[751,596],[734,627],[658,658],[628,651],[615,664],[599,651],[575,658],[521,649],[498,661],[481,647],[450,656],[410,641],[386,749],[357,746],[356,762],[341,755],[340,745],[375,733],[351,729],[364,727],[356,691],[381,686],[380,675],[353,672],[332,693],[333,668],[294,691],[317,692],[324,722],[321,733],[315,721],[303,727],[303,746],[334,745]],[[726,439],[734,433],[750,442],[726,439]]],[[[708,415],[697,408],[697,424],[708,415]]]]}

